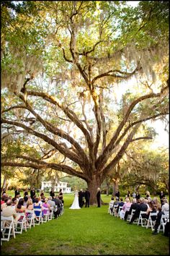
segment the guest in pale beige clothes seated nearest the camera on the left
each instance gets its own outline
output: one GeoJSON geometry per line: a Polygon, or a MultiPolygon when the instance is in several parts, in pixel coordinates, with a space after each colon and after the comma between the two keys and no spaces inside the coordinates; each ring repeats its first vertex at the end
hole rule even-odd
{"type": "MultiPolygon", "coordinates": [[[[19,216],[19,214],[17,214],[16,210],[14,208],[12,208],[12,200],[7,200],[6,208],[4,208],[2,210],[1,215],[4,217],[13,216],[14,217],[14,225],[17,226],[17,221],[19,220],[20,216],[19,216]]],[[[6,225],[8,226],[9,224],[10,224],[10,222],[7,221],[6,225]]]]}

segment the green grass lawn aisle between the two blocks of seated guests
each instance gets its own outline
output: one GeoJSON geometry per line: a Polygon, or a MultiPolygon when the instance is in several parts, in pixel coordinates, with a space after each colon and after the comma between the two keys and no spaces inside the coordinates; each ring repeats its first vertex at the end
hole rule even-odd
{"type": "Polygon", "coordinates": [[[110,216],[108,205],[71,210],[73,195],[65,194],[64,201],[63,216],[3,242],[1,255],[169,255],[162,231],[153,236],[151,229],[128,225],[110,216]]]}

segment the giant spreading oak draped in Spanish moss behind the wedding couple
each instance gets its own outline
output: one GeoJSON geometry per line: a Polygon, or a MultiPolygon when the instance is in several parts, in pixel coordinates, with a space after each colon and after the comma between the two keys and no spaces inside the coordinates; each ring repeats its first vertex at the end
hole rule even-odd
{"type": "Polygon", "coordinates": [[[34,153],[4,155],[2,166],[78,176],[96,202],[128,145],[153,137],[145,121],[169,113],[167,3],[24,1],[15,13],[3,4],[2,129],[19,127],[44,152],[32,143],[34,153]]]}

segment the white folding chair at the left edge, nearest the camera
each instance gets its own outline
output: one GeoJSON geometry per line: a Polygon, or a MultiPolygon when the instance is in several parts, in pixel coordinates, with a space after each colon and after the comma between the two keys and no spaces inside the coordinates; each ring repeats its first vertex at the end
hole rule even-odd
{"type": "Polygon", "coordinates": [[[14,236],[15,238],[15,230],[14,230],[14,217],[4,217],[1,216],[1,242],[9,241],[10,236],[14,236]],[[5,237],[7,236],[7,237],[5,237]]]}

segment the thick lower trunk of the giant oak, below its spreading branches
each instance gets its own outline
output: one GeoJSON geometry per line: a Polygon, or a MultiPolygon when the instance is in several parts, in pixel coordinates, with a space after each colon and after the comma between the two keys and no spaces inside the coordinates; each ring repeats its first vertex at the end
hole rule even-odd
{"type": "Polygon", "coordinates": [[[101,188],[102,182],[99,176],[94,176],[87,186],[90,192],[90,205],[97,205],[97,188],[101,188]]]}

